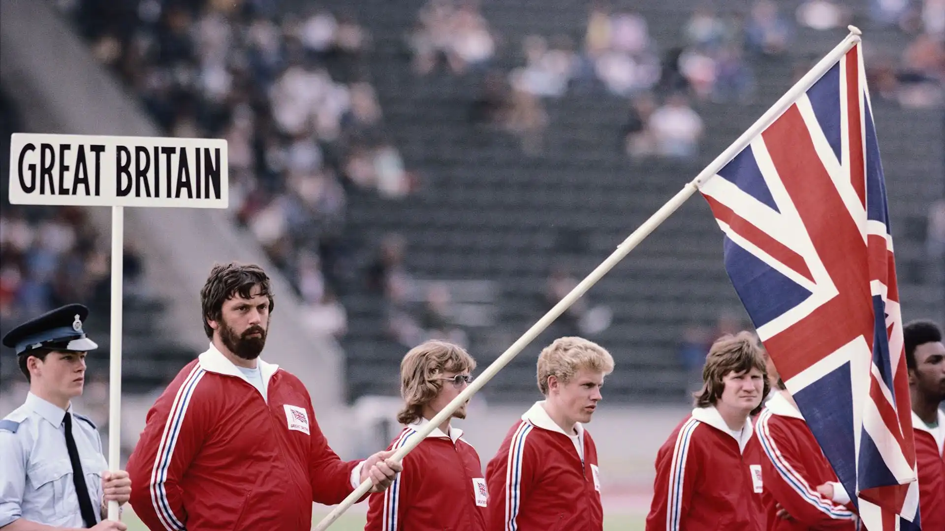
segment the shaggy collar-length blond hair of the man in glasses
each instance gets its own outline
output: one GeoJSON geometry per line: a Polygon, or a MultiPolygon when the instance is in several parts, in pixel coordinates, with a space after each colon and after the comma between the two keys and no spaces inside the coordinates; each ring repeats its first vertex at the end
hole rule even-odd
{"type": "Polygon", "coordinates": [[[444,384],[449,384],[437,380],[442,374],[472,372],[473,369],[475,360],[469,352],[446,341],[426,341],[408,351],[401,361],[404,408],[397,414],[397,421],[410,424],[421,420],[423,406],[437,398],[444,384]]]}

